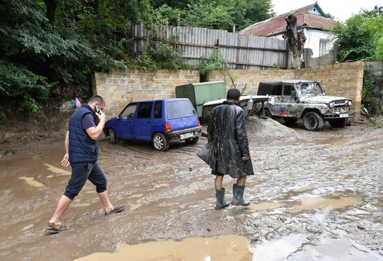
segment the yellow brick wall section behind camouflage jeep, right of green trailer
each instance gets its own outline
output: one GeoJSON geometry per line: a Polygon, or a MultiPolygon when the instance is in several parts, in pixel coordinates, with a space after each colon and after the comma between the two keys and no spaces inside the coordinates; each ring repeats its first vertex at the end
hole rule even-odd
{"type": "MultiPolygon", "coordinates": [[[[320,82],[326,95],[343,96],[352,99],[354,120],[360,118],[361,88],[363,86],[364,63],[339,63],[323,65],[301,70],[231,70],[237,88],[244,90],[245,95],[256,95],[260,81],[277,81],[280,79],[308,79],[320,82]]],[[[226,87],[232,87],[227,72],[214,71],[209,81],[226,81],[226,87]]]]}

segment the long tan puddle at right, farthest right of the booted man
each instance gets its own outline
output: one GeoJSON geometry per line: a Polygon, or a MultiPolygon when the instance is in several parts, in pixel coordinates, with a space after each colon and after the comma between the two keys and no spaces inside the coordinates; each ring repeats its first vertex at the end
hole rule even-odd
{"type": "Polygon", "coordinates": [[[337,193],[333,194],[331,198],[314,198],[304,197],[297,200],[300,205],[297,205],[290,210],[290,213],[297,213],[302,210],[310,210],[315,208],[321,208],[326,210],[341,209],[343,207],[351,206],[359,203],[363,197],[361,195],[356,196],[339,196],[337,193]]]}

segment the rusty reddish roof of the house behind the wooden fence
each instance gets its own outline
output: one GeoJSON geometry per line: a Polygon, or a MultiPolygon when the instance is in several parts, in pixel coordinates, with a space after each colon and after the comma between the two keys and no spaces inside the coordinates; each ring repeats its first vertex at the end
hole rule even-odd
{"type": "MultiPolygon", "coordinates": [[[[314,9],[315,10],[315,9],[314,9]]],[[[240,34],[252,35],[252,36],[267,36],[284,33],[286,31],[286,20],[288,15],[295,15],[297,17],[297,27],[308,26],[313,29],[332,29],[334,28],[334,20],[325,16],[318,3],[313,3],[309,6],[304,6],[297,10],[292,10],[289,13],[272,17],[262,22],[252,24],[247,28],[240,31],[240,34]],[[314,7],[318,9],[318,13],[321,15],[314,15],[308,13],[314,7]]]]}

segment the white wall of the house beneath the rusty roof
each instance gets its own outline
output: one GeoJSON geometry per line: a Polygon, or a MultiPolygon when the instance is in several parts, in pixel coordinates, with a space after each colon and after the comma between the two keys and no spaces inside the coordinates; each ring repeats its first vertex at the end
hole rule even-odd
{"type": "MultiPolygon", "coordinates": [[[[323,55],[320,54],[320,39],[328,40],[326,47],[327,51],[329,51],[329,49],[331,49],[334,45],[334,42],[330,39],[330,35],[325,31],[304,28],[304,35],[306,35],[306,42],[304,43],[304,48],[311,48],[313,50],[313,56],[311,57],[319,57],[323,55]]],[[[273,35],[270,37],[283,40],[282,36],[283,33],[273,35]]]]}

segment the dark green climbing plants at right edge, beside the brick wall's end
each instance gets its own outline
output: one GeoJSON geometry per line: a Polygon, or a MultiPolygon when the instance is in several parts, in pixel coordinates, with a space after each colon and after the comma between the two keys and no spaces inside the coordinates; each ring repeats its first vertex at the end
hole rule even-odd
{"type": "Polygon", "coordinates": [[[361,102],[368,110],[369,116],[383,114],[383,76],[375,74],[371,66],[364,70],[361,102]]]}

